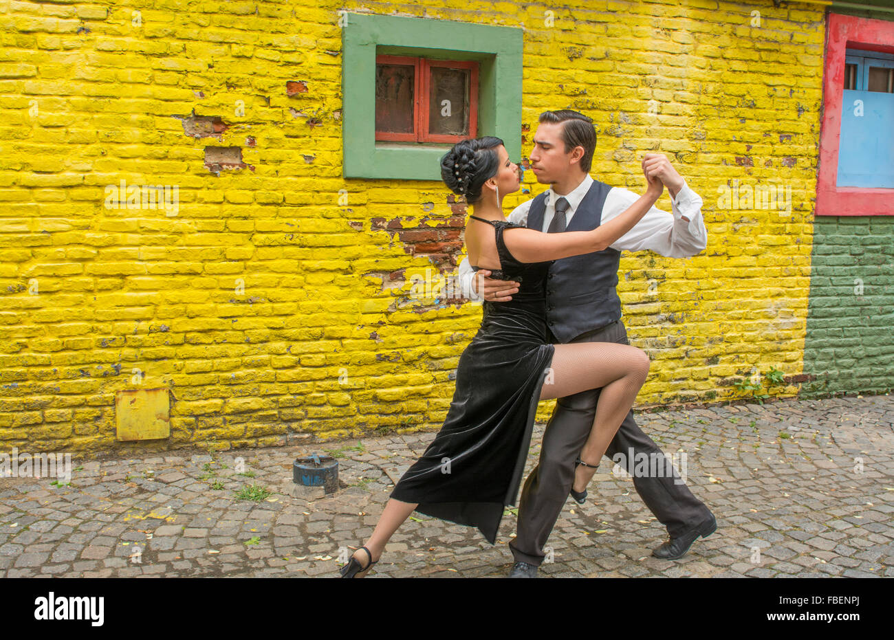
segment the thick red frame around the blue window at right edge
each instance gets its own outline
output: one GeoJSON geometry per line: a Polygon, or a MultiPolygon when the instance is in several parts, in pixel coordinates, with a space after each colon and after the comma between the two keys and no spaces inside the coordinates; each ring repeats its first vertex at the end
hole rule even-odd
{"type": "Polygon", "coordinates": [[[894,189],[839,187],[835,184],[841,138],[845,50],[848,47],[894,54],[894,22],[829,14],[814,215],[894,215],[894,189]]]}

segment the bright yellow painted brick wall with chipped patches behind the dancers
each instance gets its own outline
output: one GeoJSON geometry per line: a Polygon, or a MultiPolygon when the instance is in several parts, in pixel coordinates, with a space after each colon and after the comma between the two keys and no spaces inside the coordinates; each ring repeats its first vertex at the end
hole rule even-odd
{"type": "MultiPolygon", "coordinates": [[[[481,307],[409,292],[449,274],[425,231],[465,212],[440,182],[342,179],[342,10],[524,27],[523,154],[537,115],[569,107],[596,122],[599,180],[642,189],[655,150],[702,195],[703,255],[621,259],[654,360],[641,405],[801,373],[822,7],[0,0],[8,447],[127,449],[114,394],[136,388],[171,390],[170,441],[144,448],[441,425],[481,307]],[[719,207],[733,180],[789,185],[791,215],[719,207]],[[122,181],[176,187],[178,206],[106,206],[122,181]]],[[[507,213],[544,189],[527,187],[507,213]]]]}

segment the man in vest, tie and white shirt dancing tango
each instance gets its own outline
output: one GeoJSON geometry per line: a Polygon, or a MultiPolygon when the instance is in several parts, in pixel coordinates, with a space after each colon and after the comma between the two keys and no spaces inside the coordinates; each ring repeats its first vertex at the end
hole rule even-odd
{"type": "MultiPolygon", "coordinates": [[[[516,207],[509,216],[510,222],[543,232],[587,231],[619,215],[637,200],[637,195],[628,189],[612,188],[590,177],[596,145],[592,120],[569,109],[544,112],[539,120],[529,160],[537,181],[549,184],[550,189],[516,207]]],[[[644,171],[646,163],[668,188],[672,215],[652,207],[611,247],[553,261],[546,285],[546,319],[553,343],[628,344],[616,291],[622,250],[650,249],[662,256],[690,257],[707,246],[701,198],[687,187],[664,156],[646,154],[644,171]]],[[[483,297],[493,301],[509,300],[519,291],[518,282],[484,277],[490,273],[486,269],[473,272],[468,259],[463,259],[463,291],[471,299],[483,297]]],[[[600,391],[580,392],[556,401],[537,467],[522,490],[518,532],[510,542],[515,558],[510,577],[536,577],[544,560],[544,544],[569,496],[576,457],[593,426],[600,391]]],[[[642,473],[640,465],[637,473],[636,460],[642,456],[656,459],[663,453],[637,426],[632,410],[605,455],[622,459],[621,466],[634,476],[637,493],[667,527],[669,539],[654,550],[655,557],[681,558],[699,535],[705,537],[716,529],[711,510],[688,490],[676,469],[667,465],[671,473],[649,476],[648,471],[642,473]]]]}

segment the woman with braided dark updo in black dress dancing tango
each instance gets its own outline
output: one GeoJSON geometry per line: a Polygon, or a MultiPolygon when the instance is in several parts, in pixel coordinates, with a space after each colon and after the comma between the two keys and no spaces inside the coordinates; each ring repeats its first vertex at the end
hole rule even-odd
{"type": "Polygon", "coordinates": [[[588,232],[543,233],[502,213],[502,197],[517,191],[521,179],[501,139],[462,140],[443,156],[443,181],[475,212],[466,227],[469,264],[519,282],[519,292],[507,302],[485,302],[478,333],[460,356],[441,431],[401,476],[342,577],[365,576],[414,510],[477,526],[495,543],[503,509],[519,492],[537,401],[602,388],[575,472],[574,487],[586,488],[645,383],[649,358],[623,344],[547,343],[546,276],[551,260],[607,248],[645,215],[663,189],[648,166],[645,173],[645,196],[623,214],[588,232]]]}

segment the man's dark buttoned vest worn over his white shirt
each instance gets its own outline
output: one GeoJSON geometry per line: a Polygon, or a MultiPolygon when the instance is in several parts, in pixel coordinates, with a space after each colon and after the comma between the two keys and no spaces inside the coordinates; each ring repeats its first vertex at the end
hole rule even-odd
{"type": "MultiPolygon", "coordinates": [[[[610,189],[604,182],[593,181],[565,231],[586,232],[598,227],[610,189]]],[[[545,200],[544,191],[531,203],[529,228],[543,230],[545,200]]],[[[611,247],[552,261],[546,276],[546,323],[559,341],[572,341],[581,333],[620,319],[620,298],[615,289],[619,265],[620,251],[611,247]]]]}

